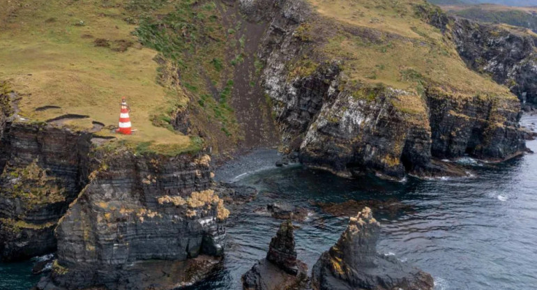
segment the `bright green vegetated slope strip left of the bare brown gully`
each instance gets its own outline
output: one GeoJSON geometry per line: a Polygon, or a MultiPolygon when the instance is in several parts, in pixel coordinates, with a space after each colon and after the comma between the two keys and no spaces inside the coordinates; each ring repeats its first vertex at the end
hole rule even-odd
{"type": "Polygon", "coordinates": [[[245,36],[239,38],[236,29],[222,24],[216,5],[213,1],[176,2],[174,10],[160,17],[145,17],[135,35],[179,69],[181,85],[195,100],[189,106],[197,106],[194,111],[202,112],[195,116],[197,127],[210,131],[212,139],[230,138],[233,143],[240,134],[229,105],[234,72],[230,68],[244,61],[240,50],[245,36]],[[233,59],[226,58],[230,49],[236,52],[233,59]]]}

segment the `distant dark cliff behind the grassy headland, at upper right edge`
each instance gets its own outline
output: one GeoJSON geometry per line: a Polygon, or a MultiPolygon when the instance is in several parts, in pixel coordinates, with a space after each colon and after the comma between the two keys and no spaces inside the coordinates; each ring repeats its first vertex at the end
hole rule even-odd
{"type": "Polygon", "coordinates": [[[533,33],[447,16],[428,5],[416,7],[429,24],[448,33],[469,68],[491,75],[522,102],[537,103],[537,37],[533,33]]]}

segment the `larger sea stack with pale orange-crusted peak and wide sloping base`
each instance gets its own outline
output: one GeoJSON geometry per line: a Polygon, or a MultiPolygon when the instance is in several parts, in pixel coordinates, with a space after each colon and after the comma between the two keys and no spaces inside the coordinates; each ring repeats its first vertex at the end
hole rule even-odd
{"type": "Polygon", "coordinates": [[[338,243],[313,266],[313,289],[432,290],[431,275],[377,253],[379,231],[370,208],[351,217],[338,243]]]}

